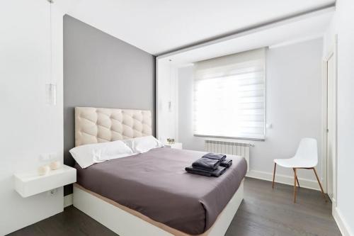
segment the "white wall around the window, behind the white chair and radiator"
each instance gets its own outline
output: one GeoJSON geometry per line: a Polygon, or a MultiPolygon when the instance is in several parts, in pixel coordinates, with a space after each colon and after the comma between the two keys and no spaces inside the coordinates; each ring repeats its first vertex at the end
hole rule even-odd
{"type": "MultiPolygon", "coordinates": [[[[322,39],[270,48],[267,52],[267,130],[265,142],[253,142],[250,167],[252,176],[270,179],[273,159],[295,154],[302,137],[315,137],[319,142],[321,166],[321,57],[322,39]]],[[[178,141],[190,150],[203,150],[201,137],[193,137],[193,68],[178,70],[178,141]]],[[[293,183],[290,169],[278,168],[284,175],[279,181],[293,183]]],[[[313,172],[300,170],[305,185],[318,188],[313,172]]]]}

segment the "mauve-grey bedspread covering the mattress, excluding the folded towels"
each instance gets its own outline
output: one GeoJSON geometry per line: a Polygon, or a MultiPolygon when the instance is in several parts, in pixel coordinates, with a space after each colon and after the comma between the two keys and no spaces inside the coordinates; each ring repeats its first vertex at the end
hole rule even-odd
{"type": "Polygon", "coordinates": [[[190,235],[200,235],[215,223],[247,169],[243,157],[228,155],[232,167],[218,178],[185,172],[184,167],[203,154],[159,147],[86,169],[76,165],[77,182],[152,220],[190,235]]]}

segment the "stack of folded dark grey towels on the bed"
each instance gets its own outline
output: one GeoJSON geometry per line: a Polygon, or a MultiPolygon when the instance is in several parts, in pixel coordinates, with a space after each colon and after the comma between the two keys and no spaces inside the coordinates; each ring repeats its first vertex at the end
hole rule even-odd
{"type": "Polygon", "coordinates": [[[231,165],[232,159],[226,159],[226,155],[207,153],[193,162],[191,167],[185,167],[185,171],[190,174],[219,177],[231,165]]]}

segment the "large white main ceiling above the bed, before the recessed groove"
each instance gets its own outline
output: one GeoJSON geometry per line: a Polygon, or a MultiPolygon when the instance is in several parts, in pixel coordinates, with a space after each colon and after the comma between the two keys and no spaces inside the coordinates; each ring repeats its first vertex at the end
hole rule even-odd
{"type": "Polygon", "coordinates": [[[69,15],[153,55],[334,0],[75,0],[69,15]]]}

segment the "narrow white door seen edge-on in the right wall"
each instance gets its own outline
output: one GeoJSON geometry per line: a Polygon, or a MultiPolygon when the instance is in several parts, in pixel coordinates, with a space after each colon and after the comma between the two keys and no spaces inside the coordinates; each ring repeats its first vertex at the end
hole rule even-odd
{"type": "Polygon", "coordinates": [[[327,193],[333,201],[336,168],[336,83],[333,55],[327,61],[327,193]]]}

